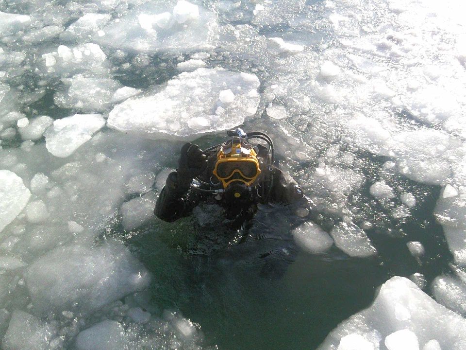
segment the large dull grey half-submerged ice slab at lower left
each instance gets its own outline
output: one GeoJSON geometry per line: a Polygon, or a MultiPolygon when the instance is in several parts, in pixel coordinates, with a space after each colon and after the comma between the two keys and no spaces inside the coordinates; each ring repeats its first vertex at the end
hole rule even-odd
{"type": "Polygon", "coordinates": [[[39,314],[90,313],[102,305],[146,288],[150,276],[125,246],[58,247],[28,267],[24,278],[39,314]]]}

